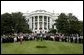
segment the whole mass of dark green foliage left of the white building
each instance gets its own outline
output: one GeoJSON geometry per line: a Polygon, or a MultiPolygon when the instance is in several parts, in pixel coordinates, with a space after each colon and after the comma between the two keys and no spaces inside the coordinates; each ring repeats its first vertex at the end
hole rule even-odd
{"type": "Polygon", "coordinates": [[[29,25],[21,12],[4,13],[1,15],[1,34],[9,33],[30,33],[29,25]]]}

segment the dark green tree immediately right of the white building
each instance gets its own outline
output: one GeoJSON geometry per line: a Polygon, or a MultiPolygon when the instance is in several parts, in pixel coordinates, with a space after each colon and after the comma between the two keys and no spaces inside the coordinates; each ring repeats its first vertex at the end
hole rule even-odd
{"type": "Polygon", "coordinates": [[[67,16],[61,13],[56,20],[56,27],[59,33],[66,33],[68,27],[67,16]]]}

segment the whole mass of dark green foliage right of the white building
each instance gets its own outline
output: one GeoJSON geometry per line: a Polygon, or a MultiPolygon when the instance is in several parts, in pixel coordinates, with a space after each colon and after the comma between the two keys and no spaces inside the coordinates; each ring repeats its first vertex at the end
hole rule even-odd
{"type": "Polygon", "coordinates": [[[83,22],[78,21],[77,17],[73,16],[72,13],[68,15],[61,13],[55,25],[59,33],[79,35],[83,33],[83,22]]]}

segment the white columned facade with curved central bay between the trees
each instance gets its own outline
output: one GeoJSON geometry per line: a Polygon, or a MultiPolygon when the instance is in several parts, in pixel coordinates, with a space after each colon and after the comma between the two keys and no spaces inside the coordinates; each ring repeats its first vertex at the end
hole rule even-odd
{"type": "Polygon", "coordinates": [[[50,13],[45,10],[36,10],[31,13],[24,13],[26,20],[28,21],[29,28],[34,33],[46,33],[52,28],[54,20],[58,18],[55,13],[50,13]]]}

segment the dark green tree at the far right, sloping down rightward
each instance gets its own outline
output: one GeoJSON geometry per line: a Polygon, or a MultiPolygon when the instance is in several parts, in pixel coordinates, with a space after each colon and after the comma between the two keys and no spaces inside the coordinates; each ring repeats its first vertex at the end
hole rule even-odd
{"type": "Polygon", "coordinates": [[[81,33],[81,27],[83,27],[77,17],[73,16],[71,13],[68,14],[69,22],[69,34],[79,34],[81,33]]]}

